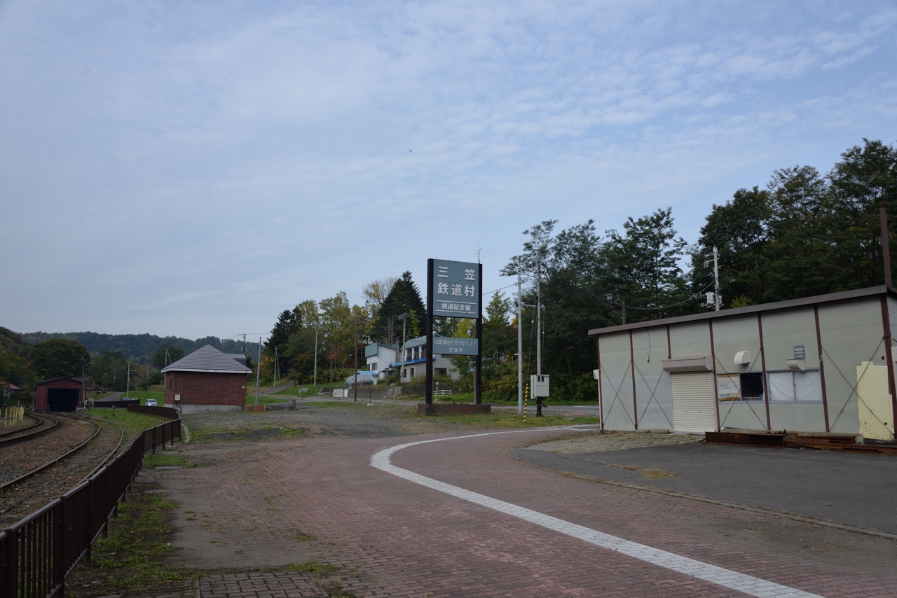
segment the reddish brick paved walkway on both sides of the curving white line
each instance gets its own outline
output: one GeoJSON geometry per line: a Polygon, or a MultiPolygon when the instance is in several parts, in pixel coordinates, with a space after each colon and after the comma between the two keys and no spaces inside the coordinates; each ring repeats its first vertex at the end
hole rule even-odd
{"type": "MultiPolygon", "coordinates": [[[[215,569],[201,590],[216,598],[337,594],[334,584],[358,596],[745,595],[370,466],[370,456],[381,449],[449,436],[456,435],[197,446],[191,460],[209,467],[160,472],[181,506],[175,544],[191,549],[175,558],[187,567],[215,569]],[[280,568],[307,559],[339,568],[317,581],[297,572],[245,573],[258,562],[280,568]],[[322,589],[322,582],[329,587],[322,589]]],[[[575,436],[554,429],[447,440],[406,448],[392,462],[573,524],[828,598],[897,595],[895,542],[565,477],[510,455],[538,440],[575,436]]]]}

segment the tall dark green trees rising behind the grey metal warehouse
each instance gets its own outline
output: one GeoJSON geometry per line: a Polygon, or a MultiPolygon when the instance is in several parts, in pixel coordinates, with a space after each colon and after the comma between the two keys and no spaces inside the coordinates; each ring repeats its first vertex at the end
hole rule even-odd
{"type": "MultiPolygon", "coordinates": [[[[713,247],[723,308],[884,284],[882,203],[897,214],[897,151],[864,139],[824,175],[795,166],[775,170],[763,187],[738,189],[712,206],[693,244],[676,232],[670,208],[629,218],[604,236],[593,221],[561,231],[557,221],[543,221],[524,231],[523,252],[501,273],[523,274],[524,303],[535,304],[541,256],[543,371],[552,376],[552,394],[597,399],[588,330],[620,325],[623,305],[628,323],[710,309],[713,247]]],[[[897,239],[888,234],[893,262],[897,239]]],[[[523,322],[523,359],[535,373],[532,312],[523,322]]]]}

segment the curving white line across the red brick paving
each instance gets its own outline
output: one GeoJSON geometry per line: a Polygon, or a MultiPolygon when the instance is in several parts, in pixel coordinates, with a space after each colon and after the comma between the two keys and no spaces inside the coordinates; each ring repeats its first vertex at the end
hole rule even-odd
{"type": "Polygon", "coordinates": [[[448,494],[449,496],[462,498],[482,507],[494,509],[496,511],[499,511],[500,513],[504,513],[505,515],[518,517],[519,519],[528,521],[531,524],[541,525],[542,527],[554,532],[569,535],[570,537],[577,538],[579,540],[582,540],[583,542],[595,544],[596,546],[600,546],[609,550],[615,550],[635,559],[649,562],[652,565],[658,565],[658,567],[667,568],[678,573],[684,573],[687,576],[697,577],[698,579],[709,581],[712,584],[722,585],[723,587],[727,587],[730,590],[743,592],[745,594],[756,596],[757,598],[822,598],[817,594],[810,594],[808,592],[804,592],[803,590],[797,590],[793,587],[788,587],[788,585],[776,584],[774,582],[761,579],[760,577],[745,575],[744,573],[738,573],[737,571],[732,571],[731,569],[717,567],[716,565],[710,565],[708,563],[701,562],[700,560],[689,559],[688,557],[683,557],[672,552],[667,552],[666,550],[659,550],[656,548],[651,548],[650,546],[646,546],[644,544],[640,544],[638,542],[624,540],[623,538],[612,536],[609,533],[597,532],[596,530],[590,529],[583,525],[571,524],[569,521],[564,521],[563,519],[558,519],[557,517],[544,515],[525,507],[518,507],[517,505],[512,505],[509,502],[504,502],[503,500],[489,498],[487,496],[484,496],[483,494],[477,494],[476,492],[471,492],[470,490],[464,490],[463,488],[458,488],[457,486],[452,486],[451,484],[424,477],[418,473],[409,472],[408,470],[402,469],[401,467],[396,467],[396,465],[393,465],[390,462],[390,457],[393,455],[393,453],[396,453],[396,451],[400,451],[403,448],[407,448],[409,446],[425,445],[431,442],[442,442],[444,440],[457,440],[459,438],[491,436],[492,434],[514,434],[519,432],[532,431],[557,431],[558,429],[582,428],[564,427],[549,428],[543,430],[521,429],[505,432],[485,432],[482,434],[469,434],[467,436],[455,436],[452,438],[435,438],[433,440],[422,440],[420,442],[409,442],[404,445],[391,446],[389,448],[383,449],[382,451],[379,451],[379,453],[376,453],[370,457],[370,464],[379,470],[392,473],[393,475],[396,475],[408,481],[414,481],[414,483],[426,486],[427,488],[431,488],[432,490],[439,490],[440,492],[448,494]]]}

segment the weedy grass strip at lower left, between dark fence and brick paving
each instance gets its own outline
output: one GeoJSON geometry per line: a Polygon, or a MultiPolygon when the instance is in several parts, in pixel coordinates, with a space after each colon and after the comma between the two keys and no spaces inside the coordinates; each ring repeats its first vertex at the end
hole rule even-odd
{"type": "MultiPolygon", "coordinates": [[[[159,484],[140,484],[141,490],[159,490],[159,484]]],[[[87,598],[109,594],[179,594],[196,571],[164,562],[171,545],[165,542],[167,523],[177,505],[160,494],[128,494],[118,507],[118,519],[109,521],[109,537],[93,543],[91,562],[83,559],[65,581],[65,594],[87,598]],[[165,590],[168,590],[166,592],[165,590]]]]}

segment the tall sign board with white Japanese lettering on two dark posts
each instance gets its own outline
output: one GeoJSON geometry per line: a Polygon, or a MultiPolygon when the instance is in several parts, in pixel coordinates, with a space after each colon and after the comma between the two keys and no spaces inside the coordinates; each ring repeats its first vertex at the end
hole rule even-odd
{"type": "Polygon", "coordinates": [[[427,260],[427,404],[433,402],[433,355],[472,355],[476,358],[475,403],[483,403],[483,264],[427,260]],[[475,339],[433,339],[433,317],[476,320],[475,339]]]}

